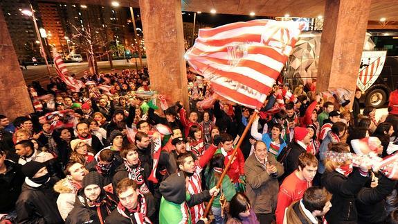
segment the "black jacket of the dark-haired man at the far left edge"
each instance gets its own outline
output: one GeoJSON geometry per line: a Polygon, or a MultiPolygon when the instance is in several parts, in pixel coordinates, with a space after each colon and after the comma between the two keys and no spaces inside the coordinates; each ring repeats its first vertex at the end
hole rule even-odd
{"type": "Polygon", "coordinates": [[[7,171],[0,174],[0,214],[7,214],[15,208],[15,203],[21,193],[25,176],[21,172],[21,165],[10,160],[4,160],[7,171]]]}

